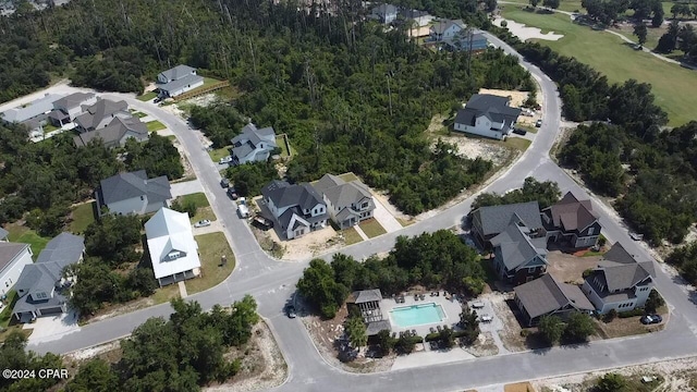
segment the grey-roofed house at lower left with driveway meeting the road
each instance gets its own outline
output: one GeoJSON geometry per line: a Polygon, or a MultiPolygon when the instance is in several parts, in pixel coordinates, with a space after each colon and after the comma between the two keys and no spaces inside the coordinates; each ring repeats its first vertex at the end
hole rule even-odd
{"type": "Polygon", "coordinates": [[[83,237],[61,233],[48,242],[36,262],[24,267],[15,284],[19,299],[12,309],[17,321],[68,311],[74,277],[64,278],[63,272],[65,267],[81,262],[84,252],[83,237]]]}

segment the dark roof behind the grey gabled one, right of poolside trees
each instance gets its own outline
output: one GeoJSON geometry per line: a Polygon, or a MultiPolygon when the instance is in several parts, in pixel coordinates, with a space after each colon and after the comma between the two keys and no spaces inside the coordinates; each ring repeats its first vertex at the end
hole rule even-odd
{"type": "Polygon", "coordinates": [[[481,222],[481,235],[499,234],[511,223],[513,216],[517,216],[531,230],[542,226],[540,208],[537,201],[516,203],[512,205],[480,207],[472,212],[481,222]]]}

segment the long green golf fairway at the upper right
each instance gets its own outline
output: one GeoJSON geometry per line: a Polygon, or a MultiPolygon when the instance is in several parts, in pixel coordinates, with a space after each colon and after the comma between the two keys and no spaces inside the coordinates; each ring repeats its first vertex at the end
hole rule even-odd
{"type": "Polygon", "coordinates": [[[568,15],[537,14],[511,4],[503,5],[502,10],[509,20],[564,35],[558,41],[541,40],[540,44],[561,54],[576,57],[607,75],[610,82],[635,78],[651,84],[656,102],[668,112],[670,125],[695,119],[697,72],[637,51],[612,34],[573,24],[568,15]]]}

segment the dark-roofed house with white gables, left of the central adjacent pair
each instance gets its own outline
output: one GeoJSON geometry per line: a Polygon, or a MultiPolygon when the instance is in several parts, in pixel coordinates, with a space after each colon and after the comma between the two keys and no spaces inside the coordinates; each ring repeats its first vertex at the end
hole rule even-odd
{"type": "Polygon", "coordinates": [[[274,180],[261,189],[261,195],[286,240],[327,225],[327,205],[309,184],[274,180]]]}

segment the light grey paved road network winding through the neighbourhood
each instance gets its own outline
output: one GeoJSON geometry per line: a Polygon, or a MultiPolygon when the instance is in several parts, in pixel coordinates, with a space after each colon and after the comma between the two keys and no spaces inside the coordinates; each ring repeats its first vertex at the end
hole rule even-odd
{"type": "MultiPolygon", "coordinates": [[[[513,50],[496,37],[487,38],[504,48],[513,50]]],[[[586,193],[550,159],[551,148],[560,124],[560,100],[554,84],[535,65],[521,59],[523,65],[540,82],[545,95],[545,122],[528,150],[506,173],[489,185],[487,192],[505,192],[519,187],[526,176],[553,180],[563,192],[573,191],[583,196],[586,193]]],[[[265,316],[289,365],[289,379],[278,388],[280,391],[452,391],[503,382],[514,382],[530,378],[542,378],[577,371],[635,365],[659,359],[693,355],[697,350],[697,313],[690,302],[692,292],[673,284],[671,278],[657,269],[658,286],[672,307],[671,322],[665,331],[638,338],[601,341],[577,347],[561,347],[548,351],[526,352],[511,355],[478,358],[473,360],[435,365],[417,369],[398,370],[372,375],[353,375],[338,370],[323,362],[317,354],[305,328],[297,319],[282,315],[284,303],[294,291],[305,262],[283,262],[269,258],[254,241],[248,226],[235,217],[233,204],[219,186],[220,174],[217,164],[200,145],[192,130],[173,114],[149,103],[144,103],[123,95],[106,97],[126,99],[138,110],[155,114],[185,146],[192,167],[206,194],[210,198],[224,233],[232,244],[237,267],[234,273],[220,285],[189,296],[204,308],[213,304],[228,304],[252,294],[259,304],[259,313],[265,316]]],[[[399,232],[389,233],[367,242],[348,246],[342,253],[363,258],[392,248],[396,235],[416,235],[441,228],[460,224],[460,219],[469,211],[473,198],[458,204],[435,217],[415,223],[399,232]]],[[[646,255],[646,250],[628,240],[626,229],[617,223],[613,211],[596,204],[601,215],[603,232],[610,241],[621,241],[629,252],[646,255]]],[[[331,254],[325,255],[326,258],[331,254]]],[[[105,321],[85,326],[78,332],[60,340],[32,345],[39,353],[65,353],[99,344],[127,335],[133,328],[152,316],[168,316],[169,305],[154,306],[105,321]]]]}

